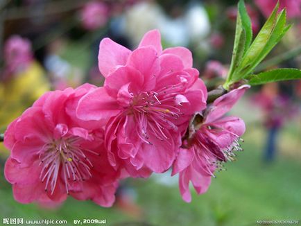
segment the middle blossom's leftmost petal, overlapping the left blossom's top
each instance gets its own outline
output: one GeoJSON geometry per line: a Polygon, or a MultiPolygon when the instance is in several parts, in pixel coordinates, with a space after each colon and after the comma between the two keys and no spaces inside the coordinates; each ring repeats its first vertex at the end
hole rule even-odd
{"type": "Polygon", "coordinates": [[[83,121],[107,121],[119,112],[116,99],[107,94],[105,87],[87,93],[76,108],[76,115],[83,121]]]}

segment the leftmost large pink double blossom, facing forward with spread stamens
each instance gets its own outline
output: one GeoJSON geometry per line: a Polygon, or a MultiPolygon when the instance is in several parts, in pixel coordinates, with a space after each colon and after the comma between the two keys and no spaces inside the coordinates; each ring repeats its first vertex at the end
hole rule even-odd
{"type": "Polygon", "coordinates": [[[103,130],[76,119],[74,112],[93,89],[86,84],[47,92],[9,125],[5,176],[17,201],[51,205],[71,195],[112,205],[119,173],[107,162],[103,130]]]}

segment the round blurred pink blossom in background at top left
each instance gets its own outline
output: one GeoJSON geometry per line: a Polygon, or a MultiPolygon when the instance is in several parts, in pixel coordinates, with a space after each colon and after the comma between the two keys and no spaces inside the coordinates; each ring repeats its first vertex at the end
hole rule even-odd
{"type": "Polygon", "coordinates": [[[107,23],[109,9],[107,5],[101,1],[88,2],[80,12],[83,26],[87,30],[95,30],[107,23]]]}

